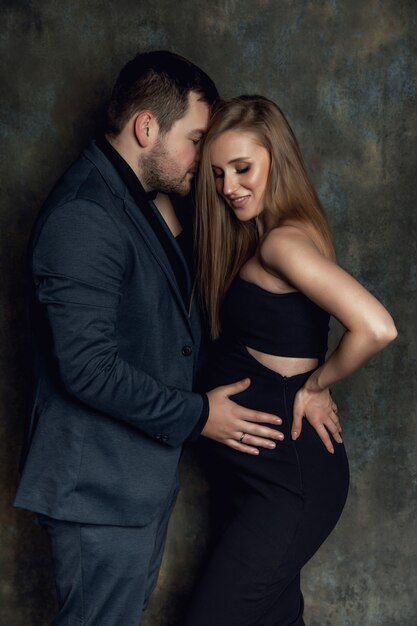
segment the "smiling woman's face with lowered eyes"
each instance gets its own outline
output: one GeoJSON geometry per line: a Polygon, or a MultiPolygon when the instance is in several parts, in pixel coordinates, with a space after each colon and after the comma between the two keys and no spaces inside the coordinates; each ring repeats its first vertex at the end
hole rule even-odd
{"type": "Polygon", "coordinates": [[[210,148],[217,193],[242,222],[264,209],[271,158],[250,131],[228,130],[210,148]]]}

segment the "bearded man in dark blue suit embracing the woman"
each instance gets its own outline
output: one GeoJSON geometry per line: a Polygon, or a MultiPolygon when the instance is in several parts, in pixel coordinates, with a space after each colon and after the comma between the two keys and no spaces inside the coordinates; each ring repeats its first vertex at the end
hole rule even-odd
{"type": "Polygon", "coordinates": [[[200,325],[181,223],[163,194],[189,192],[216,98],[186,59],[135,57],[115,85],[106,138],[65,174],[34,229],[37,387],[16,505],[49,534],[55,626],[137,626],[186,440],[202,432],[254,453],[278,437],[261,425],[277,418],[229,399],[248,381],[191,391],[200,325]]]}

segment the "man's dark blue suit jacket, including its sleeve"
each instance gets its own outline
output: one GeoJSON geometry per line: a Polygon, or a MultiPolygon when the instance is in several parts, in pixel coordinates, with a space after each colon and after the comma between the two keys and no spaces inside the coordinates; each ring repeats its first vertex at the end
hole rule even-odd
{"type": "Polygon", "coordinates": [[[48,198],[31,264],[37,384],[15,504],[68,521],[146,524],[175,486],[202,412],[191,392],[200,323],[94,142],[48,198]]]}

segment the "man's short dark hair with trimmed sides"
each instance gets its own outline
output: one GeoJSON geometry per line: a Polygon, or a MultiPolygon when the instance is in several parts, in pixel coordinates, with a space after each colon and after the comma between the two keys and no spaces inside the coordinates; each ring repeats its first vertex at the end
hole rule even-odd
{"type": "Polygon", "coordinates": [[[218,98],[215,84],[203,70],[184,57],[157,50],[136,55],[121,70],[107,109],[106,132],[118,135],[136,112],[149,110],[166,133],[188,109],[188,94],[195,91],[212,105],[218,98]]]}

